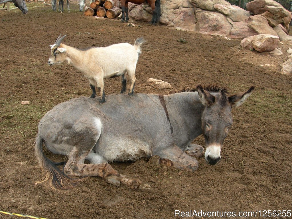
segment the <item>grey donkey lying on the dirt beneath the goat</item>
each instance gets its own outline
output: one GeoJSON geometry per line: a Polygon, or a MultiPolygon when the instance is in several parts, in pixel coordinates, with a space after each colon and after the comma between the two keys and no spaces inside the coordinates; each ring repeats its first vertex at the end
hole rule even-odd
{"type": "Polygon", "coordinates": [[[39,123],[35,141],[36,157],[51,187],[66,189],[78,179],[69,176],[100,176],[107,183],[151,190],[138,179],[119,174],[108,162],[135,161],[158,155],[167,166],[195,171],[204,149],[190,144],[203,133],[205,159],[214,165],[220,160],[223,140],[232,124],[231,109],[240,106],[254,87],[227,97],[225,88],[197,86],[171,95],[138,93],[99,98],[80,97],[56,105],[39,123]],[[55,153],[68,156],[61,172],[43,154],[43,143],[55,153]],[[185,153],[184,151],[187,151],[185,153]],[[84,164],[84,160],[90,164],[84,164]]]}

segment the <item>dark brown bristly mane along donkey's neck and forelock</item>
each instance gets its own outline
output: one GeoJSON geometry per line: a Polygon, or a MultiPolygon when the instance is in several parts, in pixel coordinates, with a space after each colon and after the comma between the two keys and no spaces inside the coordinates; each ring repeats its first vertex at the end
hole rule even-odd
{"type": "MultiPolygon", "coordinates": [[[[197,87],[199,87],[201,85],[198,85],[197,87]]],[[[227,95],[229,94],[229,92],[227,91],[227,88],[225,87],[220,87],[218,84],[208,84],[208,85],[204,85],[201,86],[204,90],[208,91],[208,92],[214,92],[214,93],[221,93],[221,98],[219,99],[221,106],[226,106],[228,101],[228,97],[227,95]]],[[[178,91],[178,93],[183,93],[183,92],[195,92],[197,91],[197,88],[186,88],[184,87],[182,90],[178,91]]]]}

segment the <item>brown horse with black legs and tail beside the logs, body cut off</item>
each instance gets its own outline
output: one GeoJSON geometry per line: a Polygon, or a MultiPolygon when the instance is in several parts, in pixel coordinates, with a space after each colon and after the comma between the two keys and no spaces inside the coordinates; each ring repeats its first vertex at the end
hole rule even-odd
{"type": "Polygon", "coordinates": [[[120,0],[121,6],[122,6],[122,22],[125,21],[125,12],[126,12],[126,22],[128,22],[128,2],[134,3],[134,4],[142,4],[147,3],[150,4],[152,10],[153,10],[153,16],[151,20],[151,24],[156,25],[157,22],[159,22],[160,18],[160,0],[120,0]]]}

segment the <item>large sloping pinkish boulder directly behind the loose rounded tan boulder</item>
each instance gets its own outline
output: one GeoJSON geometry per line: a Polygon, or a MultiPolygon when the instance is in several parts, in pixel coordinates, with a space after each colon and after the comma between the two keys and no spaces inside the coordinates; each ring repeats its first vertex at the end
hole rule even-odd
{"type": "Polygon", "coordinates": [[[244,21],[234,22],[229,37],[233,39],[244,39],[248,36],[258,34],[278,36],[274,29],[270,27],[267,19],[261,15],[254,15],[246,18],[244,21]]]}

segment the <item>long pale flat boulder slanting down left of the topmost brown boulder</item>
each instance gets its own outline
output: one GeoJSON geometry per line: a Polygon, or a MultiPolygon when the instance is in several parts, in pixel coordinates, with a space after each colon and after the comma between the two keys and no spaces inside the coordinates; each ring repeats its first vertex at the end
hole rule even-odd
{"type": "Polygon", "coordinates": [[[221,5],[214,4],[216,11],[220,12],[230,18],[234,22],[243,21],[244,19],[250,17],[250,13],[241,7],[236,5],[221,5]]]}

